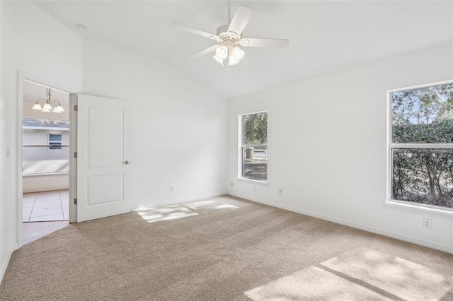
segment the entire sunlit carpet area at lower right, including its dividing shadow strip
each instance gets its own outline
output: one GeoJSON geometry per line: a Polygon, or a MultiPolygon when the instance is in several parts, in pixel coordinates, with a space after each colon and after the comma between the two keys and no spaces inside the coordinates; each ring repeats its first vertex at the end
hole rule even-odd
{"type": "Polygon", "coordinates": [[[367,247],[246,291],[255,301],[440,300],[453,275],[367,247]]]}

